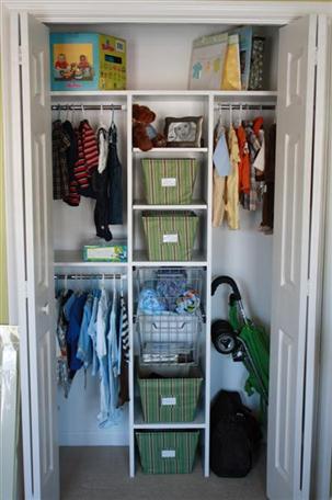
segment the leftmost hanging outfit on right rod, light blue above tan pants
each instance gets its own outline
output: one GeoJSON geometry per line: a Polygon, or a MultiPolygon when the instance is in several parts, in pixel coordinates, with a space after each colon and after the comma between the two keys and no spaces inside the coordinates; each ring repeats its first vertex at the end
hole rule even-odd
{"type": "Polygon", "coordinates": [[[215,166],[214,169],[214,192],[213,192],[213,226],[218,227],[224,220],[225,214],[225,186],[226,186],[226,174],[221,175],[219,172],[229,172],[231,169],[231,163],[229,159],[229,151],[226,141],[226,130],[219,120],[215,128],[215,144],[219,147],[217,164],[218,169],[215,166]],[[222,148],[222,151],[221,151],[222,148]],[[222,162],[226,163],[226,167],[222,167],[222,162]]]}

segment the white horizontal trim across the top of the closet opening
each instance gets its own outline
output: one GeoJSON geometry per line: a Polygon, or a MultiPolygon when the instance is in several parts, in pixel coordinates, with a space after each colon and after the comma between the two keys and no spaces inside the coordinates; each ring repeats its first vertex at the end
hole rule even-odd
{"type": "Polygon", "coordinates": [[[3,0],[42,22],[58,23],[209,23],[287,24],[310,13],[332,14],[327,2],[215,0],[3,0]]]}

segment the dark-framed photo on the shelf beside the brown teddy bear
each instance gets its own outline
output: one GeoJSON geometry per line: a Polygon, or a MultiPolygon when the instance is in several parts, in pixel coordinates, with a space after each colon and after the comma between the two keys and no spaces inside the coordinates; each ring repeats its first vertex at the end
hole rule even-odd
{"type": "Polygon", "coordinates": [[[173,148],[199,148],[203,116],[183,116],[164,118],[167,145],[173,148]]]}

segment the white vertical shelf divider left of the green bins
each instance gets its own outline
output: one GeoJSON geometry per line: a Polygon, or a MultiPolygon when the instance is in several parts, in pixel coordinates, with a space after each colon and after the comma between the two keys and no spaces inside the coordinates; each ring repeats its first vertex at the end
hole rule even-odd
{"type": "Polygon", "coordinates": [[[127,95],[127,245],[128,245],[128,323],[129,323],[129,476],[135,476],[134,434],[134,297],[133,297],[133,147],[131,147],[131,94],[127,95]]]}

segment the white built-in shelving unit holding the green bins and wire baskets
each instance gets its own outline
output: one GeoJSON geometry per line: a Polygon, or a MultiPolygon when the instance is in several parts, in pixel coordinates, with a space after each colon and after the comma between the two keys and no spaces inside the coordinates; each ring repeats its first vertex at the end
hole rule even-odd
{"type": "MultiPolygon", "coordinates": [[[[81,251],[77,249],[56,248],[55,269],[87,270],[95,272],[99,269],[108,268],[124,269],[127,274],[128,286],[128,312],[130,329],[130,366],[129,366],[129,410],[128,410],[128,434],[129,434],[129,471],[130,476],[136,470],[136,452],[135,452],[135,431],[136,430],[160,430],[160,429],[197,429],[202,433],[203,443],[203,470],[204,475],[209,474],[209,404],[210,404],[210,282],[211,282],[211,200],[213,200],[213,147],[214,147],[214,124],[216,118],[216,106],[222,102],[242,102],[243,104],[274,102],[276,99],[275,91],[260,92],[227,92],[227,91],[84,91],[84,92],[51,92],[53,103],[111,103],[121,102],[126,109],[125,116],[121,116],[119,138],[126,138],[126,143],[121,147],[121,160],[124,169],[124,182],[126,183],[126,224],[123,232],[126,235],[128,245],[128,261],[126,263],[106,263],[106,262],[84,262],[81,251]],[[167,115],[203,115],[204,127],[203,137],[205,147],[201,148],[154,148],[150,151],[141,151],[131,146],[131,105],[133,102],[139,102],[157,110],[158,123],[157,128],[161,129],[161,124],[167,115]],[[194,192],[194,201],[190,205],[148,205],[142,196],[141,175],[139,175],[139,162],[142,157],[174,158],[179,155],[181,158],[195,157],[199,163],[199,174],[197,175],[198,191],[194,192]],[[145,238],[141,230],[140,213],[142,211],[184,211],[190,209],[198,213],[202,229],[197,239],[197,247],[193,252],[193,259],[186,262],[151,262],[148,260],[145,249],[145,238]],[[206,322],[202,334],[203,354],[201,364],[204,373],[203,399],[198,408],[196,418],[193,422],[175,423],[146,423],[142,418],[140,401],[137,399],[135,389],[135,325],[133,321],[134,314],[134,283],[133,276],[137,268],[201,268],[205,275],[205,295],[203,297],[206,309],[206,322]]],[[[89,117],[89,116],[88,116],[89,117]]],[[[124,185],[125,189],[125,185],[124,185]]],[[[70,211],[70,208],[68,208],[70,211]]],[[[91,207],[89,208],[91,209],[91,207]]]]}

